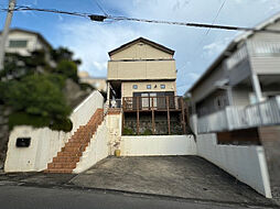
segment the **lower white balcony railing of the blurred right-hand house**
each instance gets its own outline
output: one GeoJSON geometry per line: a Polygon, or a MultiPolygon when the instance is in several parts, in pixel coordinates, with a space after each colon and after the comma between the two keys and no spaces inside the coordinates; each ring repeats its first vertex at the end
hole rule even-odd
{"type": "Polygon", "coordinates": [[[197,132],[209,133],[280,124],[280,96],[247,107],[225,110],[198,118],[197,132]]]}

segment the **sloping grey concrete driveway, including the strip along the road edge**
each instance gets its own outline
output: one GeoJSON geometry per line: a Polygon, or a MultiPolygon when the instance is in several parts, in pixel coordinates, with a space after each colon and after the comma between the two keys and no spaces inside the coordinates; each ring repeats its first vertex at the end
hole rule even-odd
{"type": "Polygon", "coordinates": [[[9,186],[11,193],[25,186],[60,189],[57,193],[71,189],[205,202],[207,207],[219,204],[233,208],[277,207],[273,200],[197,156],[108,157],[79,175],[0,172],[0,190],[9,186]]]}

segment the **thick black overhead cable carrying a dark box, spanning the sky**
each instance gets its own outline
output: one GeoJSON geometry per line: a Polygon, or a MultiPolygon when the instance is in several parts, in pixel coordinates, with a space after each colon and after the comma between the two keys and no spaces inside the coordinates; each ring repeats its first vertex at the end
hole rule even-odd
{"type": "MultiPolygon", "coordinates": [[[[2,11],[9,11],[9,9],[2,9],[2,11]]],[[[68,15],[76,15],[82,18],[89,18],[91,21],[97,21],[97,22],[104,22],[105,20],[131,21],[131,22],[144,22],[144,23],[154,23],[154,24],[181,25],[181,26],[201,28],[201,29],[216,29],[216,30],[227,30],[227,31],[252,31],[252,32],[266,32],[266,33],[280,34],[280,31],[270,30],[270,29],[255,29],[255,28],[246,28],[246,26],[207,24],[207,23],[196,23],[196,22],[176,22],[176,21],[164,21],[164,20],[137,19],[137,18],[128,18],[128,16],[99,15],[99,14],[93,14],[93,13],[61,11],[56,9],[17,7],[13,11],[15,12],[17,11],[37,11],[37,12],[68,14],[68,15]]]]}

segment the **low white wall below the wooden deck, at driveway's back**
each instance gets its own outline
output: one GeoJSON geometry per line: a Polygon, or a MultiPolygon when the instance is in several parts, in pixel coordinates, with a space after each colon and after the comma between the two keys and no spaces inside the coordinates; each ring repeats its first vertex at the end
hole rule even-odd
{"type": "Polygon", "coordinates": [[[121,136],[122,156],[195,155],[196,143],[192,135],[121,136]]]}

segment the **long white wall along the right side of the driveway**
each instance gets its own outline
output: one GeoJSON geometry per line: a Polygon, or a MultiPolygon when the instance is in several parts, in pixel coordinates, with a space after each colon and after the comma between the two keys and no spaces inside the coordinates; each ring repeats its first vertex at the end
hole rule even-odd
{"type": "Polygon", "coordinates": [[[238,180],[271,198],[262,146],[218,145],[216,134],[197,136],[197,155],[214,163],[238,180]]]}

